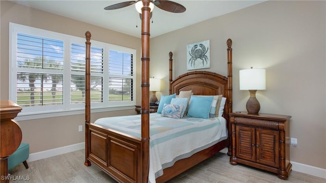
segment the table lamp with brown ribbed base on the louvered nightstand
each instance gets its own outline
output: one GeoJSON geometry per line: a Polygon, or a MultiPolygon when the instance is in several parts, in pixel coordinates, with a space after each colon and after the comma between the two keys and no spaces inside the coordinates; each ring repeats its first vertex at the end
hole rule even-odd
{"type": "Polygon", "coordinates": [[[259,101],[256,98],[257,90],[266,89],[265,69],[242,69],[239,71],[240,90],[249,90],[250,97],[246,103],[249,114],[258,114],[260,110],[259,101]]]}

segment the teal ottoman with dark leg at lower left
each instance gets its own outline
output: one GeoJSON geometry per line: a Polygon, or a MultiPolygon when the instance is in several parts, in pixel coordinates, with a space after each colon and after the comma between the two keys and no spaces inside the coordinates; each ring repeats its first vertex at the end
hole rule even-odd
{"type": "Polygon", "coordinates": [[[8,170],[15,168],[15,166],[23,163],[25,168],[28,169],[29,165],[26,160],[29,159],[30,145],[21,143],[18,149],[8,157],[8,170]]]}

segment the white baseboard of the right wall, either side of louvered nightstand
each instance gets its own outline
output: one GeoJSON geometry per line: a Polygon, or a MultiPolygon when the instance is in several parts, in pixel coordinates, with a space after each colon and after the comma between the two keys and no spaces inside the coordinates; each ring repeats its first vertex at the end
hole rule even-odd
{"type": "MultiPolygon", "coordinates": [[[[224,148],[220,152],[227,153],[228,148],[224,148]]],[[[290,161],[290,162],[292,164],[293,171],[306,173],[306,174],[321,177],[321,178],[326,178],[326,169],[313,167],[310,165],[305,165],[302,163],[297,163],[297,162],[292,162],[292,161],[290,161]]]]}

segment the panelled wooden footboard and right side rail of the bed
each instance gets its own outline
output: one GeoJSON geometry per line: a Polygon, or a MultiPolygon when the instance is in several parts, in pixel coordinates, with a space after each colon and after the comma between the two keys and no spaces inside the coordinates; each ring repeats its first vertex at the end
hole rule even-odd
{"type": "MultiPolygon", "coordinates": [[[[118,182],[141,182],[141,139],[93,123],[86,125],[89,133],[87,159],[118,182]]],[[[170,180],[228,145],[229,139],[226,139],[177,161],[164,169],[164,174],[157,177],[156,182],[170,180]]]]}

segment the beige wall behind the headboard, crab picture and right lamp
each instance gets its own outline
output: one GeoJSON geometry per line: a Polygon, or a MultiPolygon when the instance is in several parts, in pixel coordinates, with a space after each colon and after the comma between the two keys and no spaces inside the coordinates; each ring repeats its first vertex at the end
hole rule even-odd
{"type": "Polygon", "coordinates": [[[227,74],[226,40],[233,40],[233,111],[246,110],[249,91],[239,90],[239,70],[266,69],[257,91],[263,113],[292,116],[290,160],[326,168],[325,1],[268,1],[151,39],[151,73],[164,79],[168,53],[174,76],[187,72],[186,45],[210,40],[209,71],[227,74]]]}

